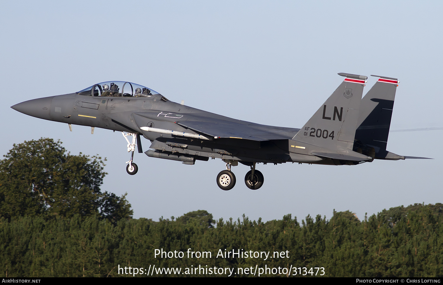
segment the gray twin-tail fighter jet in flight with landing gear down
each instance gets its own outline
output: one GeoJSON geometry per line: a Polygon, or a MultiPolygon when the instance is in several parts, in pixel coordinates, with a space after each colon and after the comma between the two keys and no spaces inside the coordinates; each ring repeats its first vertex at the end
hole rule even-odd
{"type": "MultiPolygon", "coordinates": [[[[399,156],[386,150],[398,80],[379,77],[362,99],[367,77],[339,73],[345,79],[301,129],[236,120],[169,101],[131,82],[101,82],[71,94],[29,100],[11,108],[27,115],[69,125],[91,126],[123,133],[131,159],[126,171],[138,171],[134,151],[142,151],[141,136],[151,141],[147,156],[194,164],[220,158],[223,190],[234,187],[231,166],[251,167],[245,184],[263,185],[257,163],[298,162],[354,165],[381,160],[424,158],[399,156]],[[132,136],[132,141],[128,140],[132,136]]],[[[375,75],[373,75],[375,76],[375,75]]]]}

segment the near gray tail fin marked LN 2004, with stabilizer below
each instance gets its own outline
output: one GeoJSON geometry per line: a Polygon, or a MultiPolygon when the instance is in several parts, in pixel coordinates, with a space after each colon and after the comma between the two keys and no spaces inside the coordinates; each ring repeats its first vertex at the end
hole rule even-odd
{"type": "Polygon", "coordinates": [[[367,77],[339,73],[346,77],[302,129],[292,138],[303,143],[307,155],[363,161],[371,157],[353,151],[363,87],[367,77]]]}

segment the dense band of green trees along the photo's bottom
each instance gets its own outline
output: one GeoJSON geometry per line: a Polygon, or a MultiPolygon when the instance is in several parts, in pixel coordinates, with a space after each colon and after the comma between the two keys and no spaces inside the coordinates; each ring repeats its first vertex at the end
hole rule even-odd
{"type": "MultiPolygon", "coordinates": [[[[382,211],[361,222],[350,211],[335,212],[330,220],[319,215],[307,216],[301,223],[291,215],[266,223],[251,221],[243,215],[237,221],[219,219],[213,228],[195,220],[198,216],[209,216],[206,211],[190,212],[175,221],[122,219],[115,226],[97,216],[49,220],[37,216],[11,221],[1,218],[0,277],[132,277],[119,272],[119,266],[146,270],[149,265],[182,270],[191,265],[234,269],[292,265],[292,268],[324,267],[326,277],[442,277],[441,206],[406,207],[408,210],[402,211],[395,225],[386,220],[386,212],[394,209],[392,213],[397,213],[398,209],[406,208],[382,211]],[[186,217],[189,219],[184,223],[186,217]],[[156,249],[181,251],[185,255],[155,257],[156,249]],[[210,251],[212,256],[188,258],[188,249],[210,251]],[[219,250],[267,251],[271,255],[267,260],[217,258],[219,250]],[[274,255],[286,251],[288,257],[274,255]]],[[[153,276],[184,275],[155,273],[153,276]]]]}

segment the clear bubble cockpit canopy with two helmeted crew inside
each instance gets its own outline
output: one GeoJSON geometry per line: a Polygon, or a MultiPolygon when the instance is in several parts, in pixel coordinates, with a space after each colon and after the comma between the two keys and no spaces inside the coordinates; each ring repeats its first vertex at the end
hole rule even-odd
{"type": "Polygon", "coordinates": [[[151,97],[159,93],[148,87],[131,82],[107,81],[94,84],[81,91],[78,95],[101,96],[101,97],[151,97]]]}

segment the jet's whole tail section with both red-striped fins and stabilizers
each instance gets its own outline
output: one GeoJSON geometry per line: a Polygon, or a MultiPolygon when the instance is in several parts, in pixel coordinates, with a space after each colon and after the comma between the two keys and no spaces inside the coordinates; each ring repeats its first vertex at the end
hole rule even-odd
{"type": "Polygon", "coordinates": [[[397,78],[372,75],[379,79],[361,98],[367,77],[339,75],[346,79],[289,141],[292,161],[319,163],[329,158],[334,164],[358,164],[374,159],[427,159],[386,150],[397,78]]]}

